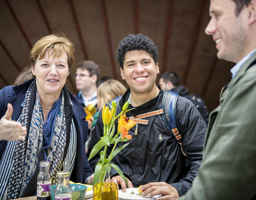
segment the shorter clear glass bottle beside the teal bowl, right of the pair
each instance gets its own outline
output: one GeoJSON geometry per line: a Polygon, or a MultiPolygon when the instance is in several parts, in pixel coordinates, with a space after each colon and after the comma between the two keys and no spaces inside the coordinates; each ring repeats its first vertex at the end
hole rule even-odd
{"type": "Polygon", "coordinates": [[[57,186],[55,189],[55,200],[71,200],[71,188],[69,185],[70,172],[57,172],[57,186]]]}

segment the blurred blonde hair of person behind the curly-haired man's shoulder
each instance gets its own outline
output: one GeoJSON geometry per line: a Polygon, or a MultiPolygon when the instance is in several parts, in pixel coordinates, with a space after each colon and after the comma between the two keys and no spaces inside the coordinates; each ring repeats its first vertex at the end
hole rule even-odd
{"type": "Polygon", "coordinates": [[[123,95],[125,91],[125,86],[115,79],[109,79],[108,81],[101,83],[97,89],[98,109],[101,109],[107,101],[109,102],[116,97],[123,95]]]}

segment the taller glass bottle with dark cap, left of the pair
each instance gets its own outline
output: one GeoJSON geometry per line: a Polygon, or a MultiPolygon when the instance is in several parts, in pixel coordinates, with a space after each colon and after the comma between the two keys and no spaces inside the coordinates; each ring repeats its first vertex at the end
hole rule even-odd
{"type": "Polygon", "coordinates": [[[39,163],[39,173],[37,175],[37,199],[38,200],[50,200],[50,186],[51,186],[51,174],[50,162],[41,161],[39,163]]]}

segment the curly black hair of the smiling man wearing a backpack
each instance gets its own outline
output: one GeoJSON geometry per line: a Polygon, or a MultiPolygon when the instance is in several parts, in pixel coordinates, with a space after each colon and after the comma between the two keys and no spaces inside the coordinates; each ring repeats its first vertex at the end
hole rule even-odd
{"type": "Polygon", "coordinates": [[[157,47],[154,42],[142,34],[130,34],[119,43],[117,48],[116,58],[122,69],[124,68],[125,53],[133,50],[146,51],[153,58],[154,62],[157,63],[157,47]]]}

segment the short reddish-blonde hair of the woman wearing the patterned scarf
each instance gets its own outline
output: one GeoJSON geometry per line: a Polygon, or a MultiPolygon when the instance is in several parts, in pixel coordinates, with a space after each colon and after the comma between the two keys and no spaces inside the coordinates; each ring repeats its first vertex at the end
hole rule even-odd
{"type": "MultiPolygon", "coordinates": [[[[68,68],[74,63],[74,44],[66,36],[47,35],[39,39],[30,51],[30,65],[34,67],[37,58],[41,60],[45,57],[46,51],[52,50],[52,55],[59,58],[66,52],[68,56],[68,68]]],[[[50,51],[48,51],[49,56],[50,51]]]]}

